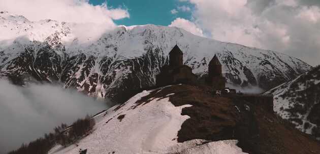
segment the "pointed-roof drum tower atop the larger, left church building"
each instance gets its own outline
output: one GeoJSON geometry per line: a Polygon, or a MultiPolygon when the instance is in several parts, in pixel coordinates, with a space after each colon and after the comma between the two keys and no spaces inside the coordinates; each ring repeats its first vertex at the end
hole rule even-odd
{"type": "Polygon", "coordinates": [[[183,65],[183,53],[177,45],[175,45],[169,53],[169,65],[170,66],[183,65]]]}

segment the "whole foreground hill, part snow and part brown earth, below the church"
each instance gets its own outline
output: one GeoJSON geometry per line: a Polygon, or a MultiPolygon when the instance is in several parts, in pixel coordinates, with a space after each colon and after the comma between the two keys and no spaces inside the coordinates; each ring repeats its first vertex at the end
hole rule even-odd
{"type": "Polygon", "coordinates": [[[196,86],[143,91],[94,117],[91,134],[49,154],[319,153],[318,143],[263,106],[196,86]]]}

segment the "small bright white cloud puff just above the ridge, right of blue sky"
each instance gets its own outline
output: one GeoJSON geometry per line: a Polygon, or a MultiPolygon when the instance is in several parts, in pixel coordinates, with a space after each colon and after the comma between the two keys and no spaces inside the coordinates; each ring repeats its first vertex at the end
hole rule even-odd
{"type": "Polygon", "coordinates": [[[183,18],[177,18],[176,20],[172,21],[169,26],[174,26],[178,28],[182,28],[186,31],[189,31],[195,35],[203,36],[202,29],[198,28],[195,23],[183,19],[183,18]]]}

